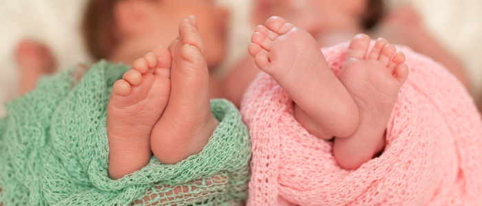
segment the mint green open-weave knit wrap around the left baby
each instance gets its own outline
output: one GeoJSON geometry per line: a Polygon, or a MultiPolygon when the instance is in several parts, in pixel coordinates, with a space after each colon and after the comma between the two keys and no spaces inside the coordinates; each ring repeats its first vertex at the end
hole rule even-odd
{"type": "Polygon", "coordinates": [[[107,102],[129,67],[99,62],[43,78],[0,120],[0,203],[10,205],[236,205],[248,196],[251,142],[235,106],[198,155],[109,178],[107,102]],[[81,78],[83,76],[83,78],[81,78]]]}

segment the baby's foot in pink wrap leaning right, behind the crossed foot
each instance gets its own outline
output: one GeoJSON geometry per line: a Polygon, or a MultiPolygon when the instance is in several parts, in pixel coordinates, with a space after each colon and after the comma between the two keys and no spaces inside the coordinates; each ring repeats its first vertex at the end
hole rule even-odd
{"type": "Polygon", "coordinates": [[[339,80],[359,109],[359,126],[347,138],[335,138],[333,152],[339,165],[352,170],[372,159],[385,146],[384,132],[398,91],[408,77],[405,55],[379,38],[367,57],[370,37],[353,38],[339,80]]]}

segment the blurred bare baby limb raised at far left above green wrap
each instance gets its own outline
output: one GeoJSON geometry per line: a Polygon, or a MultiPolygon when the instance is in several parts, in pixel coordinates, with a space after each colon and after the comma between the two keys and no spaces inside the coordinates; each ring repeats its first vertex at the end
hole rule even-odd
{"type": "Polygon", "coordinates": [[[41,43],[24,40],[17,47],[15,55],[22,71],[22,95],[35,88],[36,80],[40,76],[54,72],[54,56],[50,49],[41,43]]]}

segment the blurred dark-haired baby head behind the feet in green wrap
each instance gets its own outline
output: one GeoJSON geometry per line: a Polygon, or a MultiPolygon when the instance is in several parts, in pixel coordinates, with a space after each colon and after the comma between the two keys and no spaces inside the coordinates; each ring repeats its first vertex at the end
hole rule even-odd
{"type": "Polygon", "coordinates": [[[157,45],[168,47],[189,15],[198,18],[208,66],[216,67],[224,58],[228,11],[213,0],[91,0],[83,34],[96,60],[130,63],[157,45]]]}

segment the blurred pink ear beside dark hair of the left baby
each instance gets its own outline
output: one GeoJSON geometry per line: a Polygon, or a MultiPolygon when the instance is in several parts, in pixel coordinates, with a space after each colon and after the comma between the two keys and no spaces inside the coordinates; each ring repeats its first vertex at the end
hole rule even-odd
{"type": "Polygon", "coordinates": [[[149,25],[147,12],[150,1],[118,1],[114,8],[116,28],[123,36],[134,36],[149,25]]]}

